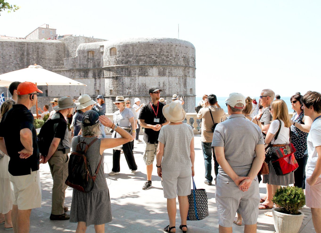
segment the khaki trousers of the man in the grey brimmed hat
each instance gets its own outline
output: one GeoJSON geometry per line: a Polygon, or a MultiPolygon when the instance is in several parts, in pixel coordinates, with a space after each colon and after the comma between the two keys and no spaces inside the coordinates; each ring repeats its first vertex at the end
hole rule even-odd
{"type": "Polygon", "coordinates": [[[56,151],[48,160],[52,179],[52,203],[51,214],[59,215],[64,213],[65,190],[67,185],[65,181],[68,176],[68,154],[62,151],[56,151]]]}

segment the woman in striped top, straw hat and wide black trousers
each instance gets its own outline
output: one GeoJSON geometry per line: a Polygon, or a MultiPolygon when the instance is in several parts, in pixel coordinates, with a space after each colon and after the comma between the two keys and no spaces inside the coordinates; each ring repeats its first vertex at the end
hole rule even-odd
{"type": "MultiPolygon", "coordinates": [[[[126,108],[126,103],[124,96],[116,96],[116,101],[113,102],[116,107],[118,108],[118,111],[114,112],[113,120],[114,123],[117,124],[119,127],[122,127],[123,129],[127,129],[129,131],[133,138],[131,141],[134,140],[136,136],[136,128],[135,128],[135,120],[134,120],[134,114],[129,109],[126,108]]],[[[113,132],[112,137],[119,137],[119,135],[116,132],[113,132]]],[[[123,144],[123,152],[126,158],[126,162],[128,164],[129,169],[132,173],[135,173],[137,171],[137,165],[135,162],[133,149],[131,142],[127,142],[123,144]]],[[[111,169],[111,172],[109,172],[109,175],[116,175],[120,172],[120,147],[113,149],[113,168],[111,169]]]]}

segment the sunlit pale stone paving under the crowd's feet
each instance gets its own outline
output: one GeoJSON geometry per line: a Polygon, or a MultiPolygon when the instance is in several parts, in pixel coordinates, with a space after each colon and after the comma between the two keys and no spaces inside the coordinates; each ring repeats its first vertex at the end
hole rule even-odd
{"type": "MultiPolygon", "coordinates": [[[[140,139],[143,136],[140,136],[140,139]]],[[[218,232],[217,209],[215,204],[215,186],[204,184],[204,159],[200,135],[195,135],[195,183],[197,188],[205,188],[207,191],[208,206],[210,215],[201,221],[187,221],[189,233],[212,233],[218,232]]],[[[166,199],[163,196],[160,177],[157,176],[156,167],[152,174],[153,187],[149,190],[142,190],[146,179],[146,169],[143,163],[143,144],[135,143],[134,156],[138,166],[135,174],[130,173],[125,157],[121,156],[121,173],[107,178],[111,197],[111,208],[113,221],[105,225],[105,232],[109,233],[154,233],[163,232],[163,228],[169,224],[166,199]]],[[[213,164],[214,166],[214,164],[213,164]]],[[[112,168],[112,150],[105,151],[105,173],[106,177],[112,168]]],[[[213,171],[214,173],[214,171],[213,171]]],[[[40,167],[41,187],[42,187],[42,207],[31,212],[30,232],[50,233],[50,232],[75,232],[77,223],[69,221],[50,221],[51,212],[51,189],[52,178],[48,164],[40,167]]],[[[261,197],[264,197],[266,188],[260,184],[261,197]]],[[[72,188],[66,190],[65,205],[69,207],[72,200],[72,188]]],[[[178,209],[178,205],[177,205],[178,209]]],[[[309,208],[302,210],[305,214],[300,233],[315,232],[309,208]]],[[[260,210],[257,220],[257,232],[274,232],[273,219],[264,215],[260,210]]],[[[69,211],[67,212],[69,213],[69,211]]],[[[177,212],[176,232],[182,232],[178,227],[180,216],[177,212]]],[[[244,224],[237,226],[233,224],[233,232],[243,232],[244,224]]],[[[0,225],[0,233],[5,231],[0,225]]],[[[95,232],[94,226],[87,228],[87,233],[95,232]]]]}

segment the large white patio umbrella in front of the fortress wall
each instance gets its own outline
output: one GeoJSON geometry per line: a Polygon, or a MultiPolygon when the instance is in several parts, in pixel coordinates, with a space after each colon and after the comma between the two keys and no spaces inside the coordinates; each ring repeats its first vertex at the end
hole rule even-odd
{"type": "MultiPolygon", "coordinates": [[[[9,87],[12,82],[33,82],[37,86],[51,86],[51,85],[80,85],[87,86],[81,82],[77,82],[74,79],[69,79],[63,75],[56,74],[52,71],[47,71],[40,65],[30,65],[28,68],[11,71],[0,75],[0,86],[9,87]]],[[[38,102],[36,103],[36,109],[38,109],[38,102]]],[[[38,111],[38,110],[37,110],[38,111]]],[[[38,119],[38,116],[37,116],[38,119]]]]}

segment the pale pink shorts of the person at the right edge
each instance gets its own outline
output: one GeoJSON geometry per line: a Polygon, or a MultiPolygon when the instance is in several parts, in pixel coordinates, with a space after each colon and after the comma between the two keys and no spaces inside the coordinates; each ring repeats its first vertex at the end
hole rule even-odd
{"type": "Polygon", "coordinates": [[[311,208],[321,208],[321,178],[317,179],[315,185],[309,185],[305,179],[305,205],[311,208]]]}

